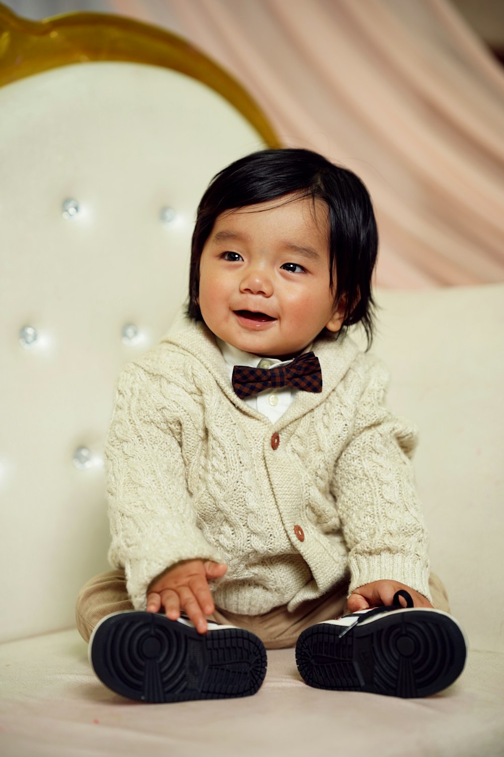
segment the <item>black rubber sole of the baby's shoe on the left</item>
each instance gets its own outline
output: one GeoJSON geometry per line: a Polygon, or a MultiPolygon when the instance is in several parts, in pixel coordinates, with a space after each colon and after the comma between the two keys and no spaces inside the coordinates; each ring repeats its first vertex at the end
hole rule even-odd
{"type": "Polygon", "coordinates": [[[132,611],[97,626],[90,662],[100,681],[128,699],[184,702],[255,694],[267,658],[261,640],[241,628],[198,634],[161,613],[132,611]]]}

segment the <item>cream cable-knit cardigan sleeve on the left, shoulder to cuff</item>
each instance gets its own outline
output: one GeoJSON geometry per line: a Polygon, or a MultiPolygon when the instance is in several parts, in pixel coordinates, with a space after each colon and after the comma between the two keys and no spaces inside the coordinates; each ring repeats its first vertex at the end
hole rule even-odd
{"type": "MultiPolygon", "coordinates": [[[[110,565],[124,568],[135,609],[146,609],[153,578],[183,559],[221,562],[196,525],[185,466],[196,445],[159,376],[135,363],[119,374],[105,445],[110,565]]],[[[186,413],[187,415],[187,413],[186,413]]],[[[185,422],[189,423],[187,418],[185,422]]]]}

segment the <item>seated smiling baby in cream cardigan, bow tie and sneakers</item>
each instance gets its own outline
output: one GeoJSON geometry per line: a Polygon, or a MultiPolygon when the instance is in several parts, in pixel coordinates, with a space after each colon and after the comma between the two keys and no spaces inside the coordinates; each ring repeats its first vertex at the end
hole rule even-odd
{"type": "Polygon", "coordinates": [[[144,702],[247,696],[265,649],[307,684],[427,696],[466,640],[430,573],[373,338],[365,186],[301,149],[218,173],[198,207],[187,315],[119,375],[107,438],[115,570],[76,618],[107,687],[144,702]],[[346,614],[345,614],[346,613],[346,614]]]}

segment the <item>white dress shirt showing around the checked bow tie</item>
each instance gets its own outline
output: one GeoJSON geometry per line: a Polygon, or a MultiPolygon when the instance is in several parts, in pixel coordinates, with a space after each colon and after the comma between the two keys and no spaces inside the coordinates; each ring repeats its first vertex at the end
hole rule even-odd
{"type": "MultiPolygon", "coordinates": [[[[289,360],[278,360],[276,357],[259,357],[258,355],[253,355],[251,352],[243,352],[243,350],[239,350],[238,347],[233,347],[231,344],[227,344],[226,341],[223,341],[218,337],[216,337],[216,339],[218,348],[221,350],[222,357],[224,357],[226,362],[230,379],[233,376],[234,366],[274,368],[275,366],[289,365],[289,363],[292,363],[292,360],[294,360],[294,358],[290,358],[289,360]]],[[[311,347],[311,344],[309,347],[306,347],[306,349],[303,350],[303,354],[305,354],[305,352],[310,352],[311,347]]],[[[270,388],[265,391],[260,391],[258,394],[252,394],[251,397],[246,397],[243,402],[246,402],[250,407],[258,410],[259,413],[263,413],[272,423],[274,423],[280,418],[280,416],[283,416],[283,413],[285,413],[289,405],[292,403],[292,400],[294,400],[295,394],[298,391],[298,389],[289,387],[284,387],[282,389],[270,388]]]]}

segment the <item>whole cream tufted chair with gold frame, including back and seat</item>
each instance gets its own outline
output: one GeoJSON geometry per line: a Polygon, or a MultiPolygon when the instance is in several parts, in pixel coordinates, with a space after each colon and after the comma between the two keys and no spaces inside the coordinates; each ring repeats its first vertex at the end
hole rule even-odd
{"type": "Polygon", "coordinates": [[[89,668],[73,612],[110,567],[116,377],[186,297],[209,180],[267,145],[258,107],[184,40],[99,14],[33,23],[0,5],[2,755],[504,754],[504,285],[378,294],[374,349],[392,407],[420,426],[432,565],[472,645],[450,690],[309,689],[294,651],[274,650],[252,698],[125,706],[89,668]]]}

